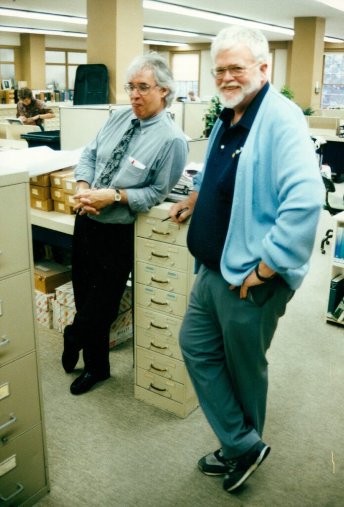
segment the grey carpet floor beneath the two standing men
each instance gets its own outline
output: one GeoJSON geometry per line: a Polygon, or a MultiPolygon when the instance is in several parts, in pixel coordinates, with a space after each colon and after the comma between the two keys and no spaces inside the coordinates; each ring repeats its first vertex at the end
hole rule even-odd
{"type": "MultiPolygon", "coordinates": [[[[342,507],[344,329],[325,322],[330,249],[280,320],[269,359],[264,440],[272,451],[236,492],[197,460],[219,447],[198,408],[186,419],[134,399],[132,344],[110,353],[111,379],[73,396],[62,335],[39,326],[51,492],[37,507],[342,507]]],[[[332,240],[333,241],[333,240],[332,240]]]]}

